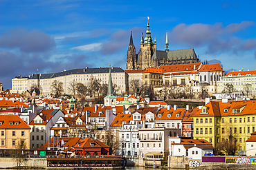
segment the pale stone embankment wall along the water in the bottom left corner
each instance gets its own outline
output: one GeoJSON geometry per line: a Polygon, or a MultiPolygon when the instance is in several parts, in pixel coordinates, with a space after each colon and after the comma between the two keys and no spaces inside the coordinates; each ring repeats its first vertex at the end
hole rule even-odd
{"type": "MultiPolygon", "coordinates": [[[[26,158],[25,161],[21,166],[26,167],[47,167],[47,160],[46,158],[26,158]]],[[[17,162],[15,158],[0,158],[0,168],[6,167],[17,167],[17,162]]]]}

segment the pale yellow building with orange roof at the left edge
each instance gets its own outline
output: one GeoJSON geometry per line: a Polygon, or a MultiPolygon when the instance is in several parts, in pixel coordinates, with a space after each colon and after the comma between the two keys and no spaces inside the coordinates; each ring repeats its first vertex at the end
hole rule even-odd
{"type": "Polygon", "coordinates": [[[1,149],[16,149],[19,143],[30,147],[30,127],[17,115],[0,115],[1,149]]]}

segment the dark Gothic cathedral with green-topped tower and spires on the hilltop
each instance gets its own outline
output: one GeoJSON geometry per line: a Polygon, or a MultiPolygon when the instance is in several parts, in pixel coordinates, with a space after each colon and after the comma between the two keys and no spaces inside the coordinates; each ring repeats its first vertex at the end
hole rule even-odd
{"type": "Polygon", "coordinates": [[[161,65],[176,65],[186,63],[199,63],[194,49],[169,51],[168,35],[166,32],[165,50],[156,50],[156,39],[153,41],[147,20],[147,31],[144,39],[141,36],[140,52],[136,54],[132,33],[127,51],[127,70],[143,70],[147,67],[160,67],[161,65]]]}

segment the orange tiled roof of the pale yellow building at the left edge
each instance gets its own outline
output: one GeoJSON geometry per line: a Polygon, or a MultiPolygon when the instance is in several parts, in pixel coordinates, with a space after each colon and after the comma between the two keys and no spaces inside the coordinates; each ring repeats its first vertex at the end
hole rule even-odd
{"type": "Polygon", "coordinates": [[[0,115],[0,129],[30,129],[30,127],[17,115],[0,115]],[[9,123],[12,123],[10,125],[9,123]],[[18,123],[18,125],[15,125],[18,123]]]}

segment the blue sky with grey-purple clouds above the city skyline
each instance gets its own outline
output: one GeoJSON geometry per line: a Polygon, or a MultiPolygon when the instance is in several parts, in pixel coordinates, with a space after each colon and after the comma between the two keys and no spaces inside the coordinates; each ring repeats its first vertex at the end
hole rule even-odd
{"type": "Polygon", "coordinates": [[[228,72],[256,70],[256,1],[0,0],[0,82],[84,67],[126,67],[149,17],[157,50],[194,48],[228,72]]]}

